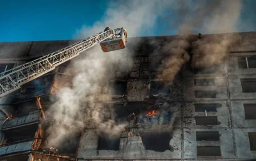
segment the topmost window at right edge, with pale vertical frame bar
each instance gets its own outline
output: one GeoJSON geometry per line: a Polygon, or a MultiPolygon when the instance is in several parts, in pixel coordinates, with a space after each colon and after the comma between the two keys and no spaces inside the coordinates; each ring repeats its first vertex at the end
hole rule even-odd
{"type": "Polygon", "coordinates": [[[256,56],[239,56],[237,63],[239,68],[256,68],[256,56]]]}

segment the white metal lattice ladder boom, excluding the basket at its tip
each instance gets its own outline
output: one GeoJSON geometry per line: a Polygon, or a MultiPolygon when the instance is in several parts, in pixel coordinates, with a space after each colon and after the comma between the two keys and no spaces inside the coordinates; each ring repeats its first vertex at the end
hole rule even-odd
{"type": "Polygon", "coordinates": [[[111,29],[95,34],[86,40],[74,43],[64,49],[60,49],[29,63],[16,66],[10,70],[0,73],[0,97],[12,93],[19,89],[22,84],[32,81],[33,79],[54,70],[56,66],[79,56],[81,52],[93,47],[97,43],[115,36],[113,34],[115,33],[115,30],[116,29],[111,29]]]}

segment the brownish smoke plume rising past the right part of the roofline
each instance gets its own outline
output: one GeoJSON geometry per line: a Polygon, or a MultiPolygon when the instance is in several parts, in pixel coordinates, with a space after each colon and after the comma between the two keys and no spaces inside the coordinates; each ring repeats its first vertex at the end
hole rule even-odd
{"type": "MultiPolygon", "coordinates": [[[[177,34],[183,35],[198,34],[198,31],[203,34],[234,33],[237,31],[241,7],[239,0],[200,1],[196,4],[195,1],[179,1],[173,5],[177,15],[173,17],[170,29],[178,28],[177,34]]],[[[181,66],[189,61],[188,49],[192,49],[189,54],[192,54],[193,67],[218,65],[237,40],[238,34],[203,35],[196,40],[189,40],[188,36],[180,40],[178,36],[164,46],[169,49],[170,56],[164,58],[164,70],[159,77],[172,80],[181,66]]]]}

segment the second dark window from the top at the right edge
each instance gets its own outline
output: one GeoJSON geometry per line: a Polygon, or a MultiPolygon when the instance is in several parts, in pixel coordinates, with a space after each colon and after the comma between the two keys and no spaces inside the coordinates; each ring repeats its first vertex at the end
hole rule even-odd
{"type": "Polygon", "coordinates": [[[256,79],[240,79],[243,93],[256,92],[256,79]]]}

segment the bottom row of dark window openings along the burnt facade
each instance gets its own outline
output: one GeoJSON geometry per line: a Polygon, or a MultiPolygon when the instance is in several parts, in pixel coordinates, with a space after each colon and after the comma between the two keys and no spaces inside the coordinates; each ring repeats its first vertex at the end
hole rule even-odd
{"type": "MultiPolygon", "coordinates": [[[[156,135],[141,135],[143,145],[146,150],[154,151],[164,151],[168,150],[164,147],[164,143],[168,143],[170,135],[167,134],[157,134],[156,135]],[[161,137],[161,139],[159,138],[161,137]],[[156,140],[156,141],[154,141],[156,140]],[[148,142],[154,142],[154,144],[148,144],[148,142]],[[150,146],[152,145],[152,146],[150,146]],[[153,146],[154,145],[154,146],[153,146]]],[[[250,150],[256,150],[256,133],[249,132],[248,139],[250,142],[250,150]]],[[[220,141],[220,134],[218,131],[196,131],[196,141],[220,141]]],[[[97,150],[119,150],[120,138],[107,139],[105,137],[99,137],[97,150]]],[[[197,156],[221,156],[220,146],[196,146],[197,156]]]]}

